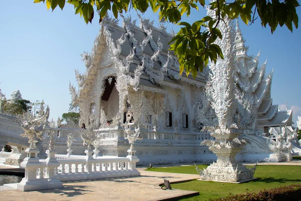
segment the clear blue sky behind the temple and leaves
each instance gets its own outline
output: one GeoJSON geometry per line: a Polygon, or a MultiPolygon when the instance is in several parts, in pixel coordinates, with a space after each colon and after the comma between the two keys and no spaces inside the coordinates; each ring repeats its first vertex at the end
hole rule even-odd
{"type": "MultiPolygon", "coordinates": [[[[138,19],[134,11],[130,13],[133,20],[138,19]]],[[[205,14],[200,8],[200,12],[192,12],[189,19],[183,17],[183,20],[192,23],[205,14]]],[[[300,7],[297,14],[301,16],[300,7]]],[[[157,24],[158,17],[151,11],[144,17],[157,24]]],[[[179,29],[179,26],[167,26],[168,31],[179,29]]],[[[43,3],[33,4],[33,0],[3,1],[0,27],[0,89],[7,98],[19,89],[23,98],[31,102],[44,99],[50,107],[50,119],[56,121],[68,112],[69,80],[77,85],[74,69],[85,71],[80,53],[90,52],[93,47],[99,30],[98,16],[92,25],[86,25],[68,4],[63,11],[57,8],[51,12],[43,3]]],[[[269,28],[261,27],[259,20],[251,26],[240,23],[240,27],[249,45],[249,55],[261,50],[260,64],[268,59],[266,71],[274,68],[273,104],[285,109],[287,101],[288,109],[294,110],[295,122],[301,116],[301,28],[290,33],[286,27],[278,27],[272,35],[269,28]]]]}

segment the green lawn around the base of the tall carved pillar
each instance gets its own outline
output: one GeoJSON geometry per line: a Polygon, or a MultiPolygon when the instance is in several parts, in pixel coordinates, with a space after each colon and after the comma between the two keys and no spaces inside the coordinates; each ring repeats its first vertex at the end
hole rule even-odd
{"type": "MultiPolygon", "coordinates": [[[[207,167],[198,165],[199,168],[207,167]]],[[[152,168],[149,171],[190,173],[196,174],[195,166],[152,168]]],[[[200,195],[185,198],[183,200],[208,200],[209,198],[225,197],[232,194],[245,193],[247,191],[258,192],[263,189],[276,188],[290,184],[301,183],[301,166],[262,165],[257,166],[255,177],[257,180],[247,183],[222,183],[213,181],[192,180],[184,183],[171,184],[172,188],[199,191],[200,195]]]]}

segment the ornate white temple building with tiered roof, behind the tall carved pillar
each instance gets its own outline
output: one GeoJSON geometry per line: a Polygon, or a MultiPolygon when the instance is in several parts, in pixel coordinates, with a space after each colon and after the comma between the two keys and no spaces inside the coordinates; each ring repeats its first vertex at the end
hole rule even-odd
{"type": "MultiPolygon", "coordinates": [[[[140,17],[139,17],[140,18],[140,17]]],[[[238,24],[232,23],[233,85],[238,107],[237,122],[244,126],[250,143],[238,156],[244,161],[281,160],[268,143],[269,127],[290,126],[291,111],[277,111],[270,94],[272,72],[266,62],[247,54],[238,24]]],[[[204,126],[218,123],[204,89],[210,68],[196,78],[179,74],[179,62],[169,51],[173,35],[141,19],[139,25],[124,18],[122,26],[106,18],[90,53],[82,60],[86,71],[75,70],[78,88],[69,86],[72,100],[80,106],[80,124],[96,130],[100,155],[124,156],[128,148],[124,129],[139,129],[135,142],[140,164],[212,161],[216,155],[203,140],[211,139],[204,126]]]]}

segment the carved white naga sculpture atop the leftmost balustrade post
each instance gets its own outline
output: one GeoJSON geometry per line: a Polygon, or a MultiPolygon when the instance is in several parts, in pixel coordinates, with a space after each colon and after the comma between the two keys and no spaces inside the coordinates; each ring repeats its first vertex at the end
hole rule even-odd
{"type": "Polygon", "coordinates": [[[49,117],[49,107],[46,109],[46,113],[43,116],[39,116],[32,121],[24,121],[21,125],[21,128],[24,130],[24,134],[21,134],[22,137],[27,137],[30,143],[30,149],[36,149],[36,143],[38,142],[36,138],[42,140],[42,131],[43,131],[43,121],[49,117]],[[39,123],[41,123],[39,125],[39,123]]]}

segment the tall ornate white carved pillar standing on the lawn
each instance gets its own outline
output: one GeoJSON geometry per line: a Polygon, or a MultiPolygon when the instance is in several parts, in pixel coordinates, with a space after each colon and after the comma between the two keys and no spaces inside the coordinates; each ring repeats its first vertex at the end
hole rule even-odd
{"type": "MultiPolygon", "coordinates": [[[[209,13],[208,13],[209,14],[209,13]]],[[[209,14],[210,15],[210,14],[209,14]]],[[[218,59],[216,63],[209,64],[210,75],[206,85],[206,92],[210,97],[218,125],[205,127],[216,141],[205,140],[202,144],[209,147],[217,155],[217,162],[212,163],[207,169],[200,171],[201,179],[218,181],[243,181],[253,177],[254,170],[248,169],[236,161],[235,155],[243,148],[246,141],[239,136],[242,134],[236,114],[237,102],[234,99],[233,69],[234,69],[234,36],[231,21],[226,17],[218,25],[223,40],[217,39],[221,47],[224,60],[218,59]],[[231,30],[229,30],[231,29],[231,30]]]]}

